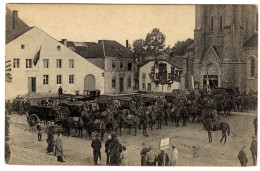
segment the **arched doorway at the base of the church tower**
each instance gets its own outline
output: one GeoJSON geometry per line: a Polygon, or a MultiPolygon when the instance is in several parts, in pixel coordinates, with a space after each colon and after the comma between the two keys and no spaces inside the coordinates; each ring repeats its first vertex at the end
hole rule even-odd
{"type": "Polygon", "coordinates": [[[209,64],[206,67],[205,75],[203,76],[203,88],[217,88],[219,85],[218,69],[214,64],[209,64]]]}

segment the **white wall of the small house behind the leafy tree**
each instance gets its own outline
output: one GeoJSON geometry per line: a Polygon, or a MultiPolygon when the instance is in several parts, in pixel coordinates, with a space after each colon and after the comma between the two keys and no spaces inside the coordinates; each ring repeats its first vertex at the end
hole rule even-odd
{"type": "MultiPolygon", "coordinates": [[[[159,63],[162,61],[159,61],[159,63]]],[[[171,64],[168,62],[162,62],[167,64],[167,73],[171,73],[171,64]]],[[[147,64],[140,67],[140,73],[139,73],[139,91],[148,91],[148,83],[151,83],[151,91],[152,92],[172,92],[172,90],[180,89],[181,84],[180,82],[173,82],[171,84],[171,87],[168,88],[168,85],[159,85],[156,87],[155,83],[151,82],[151,79],[149,77],[149,74],[151,73],[151,67],[154,65],[154,61],[150,61],[147,64]],[[143,73],[146,75],[146,79],[143,79],[143,73]],[[143,89],[143,83],[145,83],[145,89],[143,89]]]]}

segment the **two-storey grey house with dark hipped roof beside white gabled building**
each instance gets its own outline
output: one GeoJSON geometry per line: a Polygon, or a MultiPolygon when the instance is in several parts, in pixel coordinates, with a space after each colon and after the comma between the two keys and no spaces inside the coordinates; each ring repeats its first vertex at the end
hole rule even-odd
{"type": "Polygon", "coordinates": [[[113,40],[99,40],[79,53],[86,60],[104,70],[104,94],[132,93],[133,54],[113,40]]]}

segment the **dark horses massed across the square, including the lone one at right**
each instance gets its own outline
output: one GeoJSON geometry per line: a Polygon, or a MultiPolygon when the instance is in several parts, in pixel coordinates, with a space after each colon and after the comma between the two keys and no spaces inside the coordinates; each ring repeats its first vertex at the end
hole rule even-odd
{"type": "MultiPolygon", "coordinates": [[[[142,134],[148,136],[147,128],[151,131],[154,129],[154,124],[157,123],[157,129],[162,128],[162,123],[168,125],[170,119],[172,124],[176,127],[179,126],[180,121],[183,126],[186,126],[186,122],[190,120],[192,123],[202,122],[204,128],[209,130],[209,142],[212,141],[211,130],[208,128],[208,121],[202,117],[202,113],[205,113],[205,104],[209,109],[212,105],[216,105],[215,99],[210,99],[209,96],[200,98],[191,98],[190,96],[177,95],[174,98],[174,103],[168,102],[164,96],[152,98],[147,101],[140,96],[132,98],[124,104],[115,105],[114,103],[108,104],[102,110],[94,110],[91,106],[83,107],[81,115],[78,117],[69,117],[65,119],[62,126],[64,130],[70,135],[71,128],[75,129],[76,136],[82,137],[83,131],[86,130],[86,135],[91,139],[93,132],[101,133],[101,138],[104,132],[114,132],[122,134],[122,128],[128,129],[128,133],[131,134],[131,129],[134,129],[134,135],[137,135],[137,130],[142,129],[142,134]],[[213,104],[210,104],[213,103],[213,104]]],[[[119,101],[119,100],[117,100],[119,101]]],[[[220,109],[220,108],[218,108],[220,109]]],[[[208,110],[207,110],[208,111],[208,110]]],[[[224,110],[218,111],[225,113],[224,110]]],[[[208,112],[206,115],[210,115],[208,112]]],[[[227,125],[220,124],[220,127],[227,125]]],[[[219,126],[216,128],[221,129],[219,126]]],[[[215,131],[216,128],[214,128],[215,131]]],[[[226,131],[223,130],[223,137],[226,142],[226,131]]],[[[230,130],[228,131],[230,132],[230,130]]]]}

